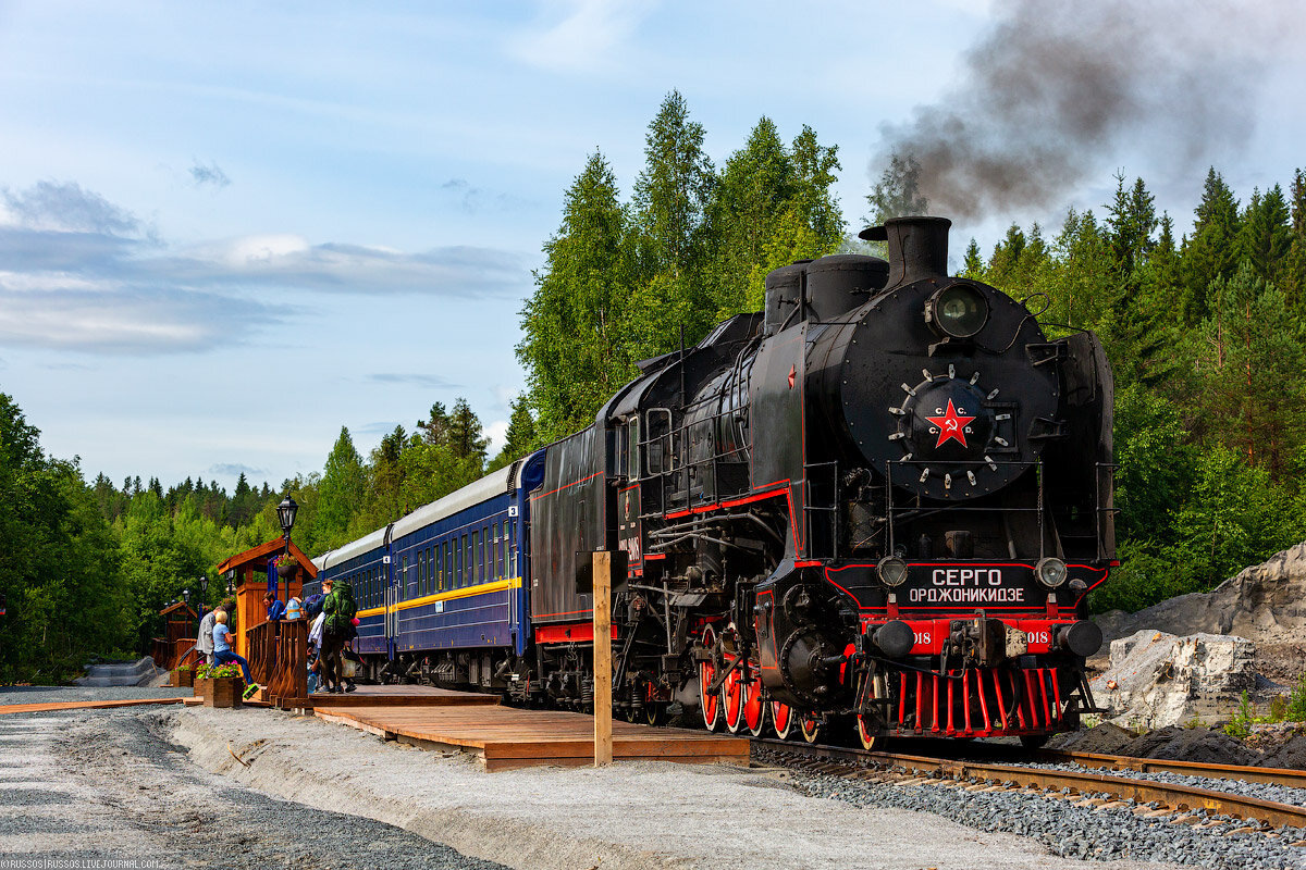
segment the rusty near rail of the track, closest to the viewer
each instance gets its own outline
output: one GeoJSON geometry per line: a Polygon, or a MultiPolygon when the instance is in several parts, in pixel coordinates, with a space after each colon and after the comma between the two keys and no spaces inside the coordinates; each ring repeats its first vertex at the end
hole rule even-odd
{"type": "Polygon", "coordinates": [[[981,764],[949,758],[930,758],[925,755],[902,755],[897,753],[871,753],[840,746],[816,746],[778,740],[752,741],[767,749],[825,758],[854,767],[874,764],[878,767],[904,768],[918,773],[939,773],[952,780],[980,779],[995,784],[1015,784],[1025,788],[1064,789],[1080,794],[1111,794],[1119,800],[1134,800],[1139,803],[1158,802],[1177,810],[1204,810],[1218,815],[1232,815],[1242,819],[1256,819],[1273,827],[1290,826],[1306,828],[1306,807],[1263,801],[1229,792],[1175,785],[1155,780],[1088,773],[1079,771],[1051,771],[1037,767],[1017,767],[1011,764],[981,764]]]}

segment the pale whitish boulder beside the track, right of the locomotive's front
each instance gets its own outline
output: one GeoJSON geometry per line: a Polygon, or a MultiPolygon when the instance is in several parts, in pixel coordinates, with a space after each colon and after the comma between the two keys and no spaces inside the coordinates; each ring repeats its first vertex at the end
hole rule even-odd
{"type": "Polygon", "coordinates": [[[1246,638],[1136,631],[1111,642],[1111,663],[1092,681],[1093,697],[1124,728],[1222,721],[1243,691],[1256,689],[1255,655],[1246,638]]]}

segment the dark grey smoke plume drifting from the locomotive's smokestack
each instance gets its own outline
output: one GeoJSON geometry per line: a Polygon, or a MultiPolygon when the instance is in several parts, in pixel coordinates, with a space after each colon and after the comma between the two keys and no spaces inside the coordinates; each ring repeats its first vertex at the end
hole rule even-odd
{"type": "Polygon", "coordinates": [[[895,157],[916,160],[932,214],[1064,202],[1126,149],[1204,170],[1251,134],[1258,83],[1303,18],[1296,0],[998,0],[995,10],[964,57],[964,83],[882,129],[872,177],[895,157]]]}

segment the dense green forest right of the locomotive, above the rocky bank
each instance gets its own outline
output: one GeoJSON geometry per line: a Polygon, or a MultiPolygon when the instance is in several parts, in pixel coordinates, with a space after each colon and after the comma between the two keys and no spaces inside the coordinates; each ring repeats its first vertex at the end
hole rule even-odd
{"type": "Polygon", "coordinates": [[[1143,180],[1119,175],[1105,222],[1071,210],[1051,244],[1012,226],[987,258],[966,252],[965,275],[1042,293],[1045,329],[1092,329],[1111,361],[1122,565],[1096,609],[1209,590],[1306,537],[1301,171],[1289,200],[1275,185],[1239,213],[1212,170],[1177,243],[1143,180]]]}

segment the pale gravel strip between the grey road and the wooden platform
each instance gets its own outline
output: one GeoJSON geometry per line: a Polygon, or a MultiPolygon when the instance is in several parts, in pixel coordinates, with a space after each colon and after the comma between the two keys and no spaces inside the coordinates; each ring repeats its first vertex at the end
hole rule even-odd
{"type": "Polygon", "coordinates": [[[171,727],[172,740],[212,772],[512,867],[1175,866],[1067,861],[1033,840],[980,832],[934,814],[806,797],[780,771],[654,762],[485,773],[465,755],[383,743],[346,725],[266,710],[140,715],[171,727]],[[249,767],[232,758],[229,743],[249,767]]]}

